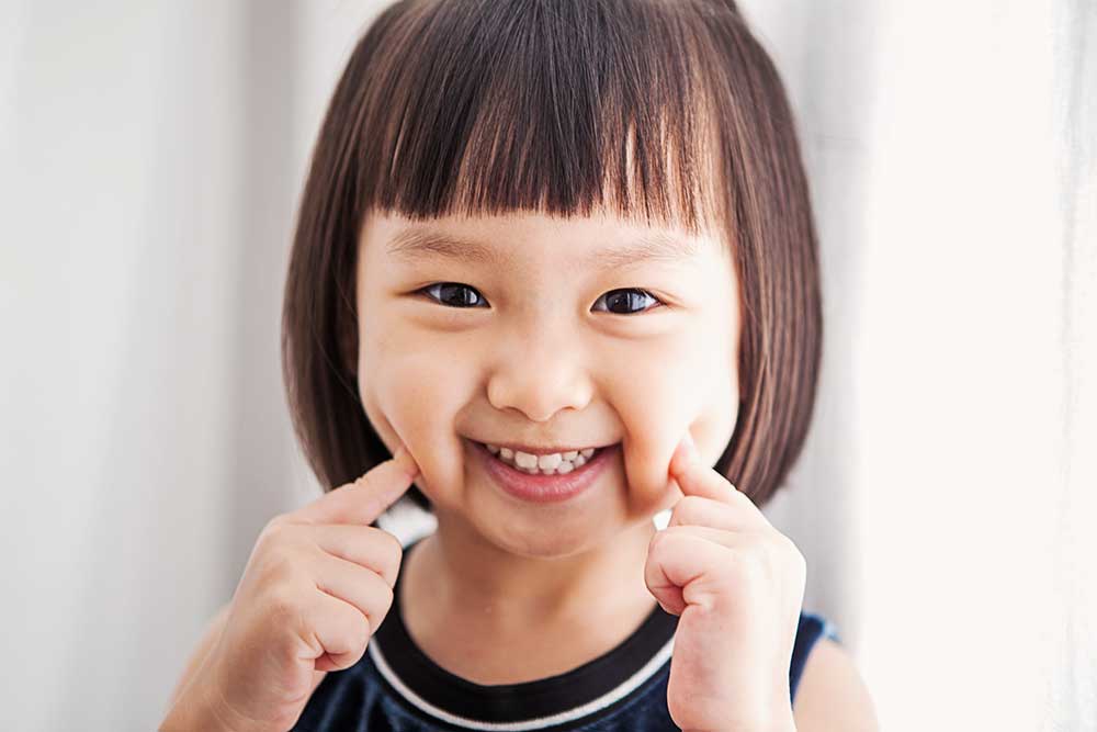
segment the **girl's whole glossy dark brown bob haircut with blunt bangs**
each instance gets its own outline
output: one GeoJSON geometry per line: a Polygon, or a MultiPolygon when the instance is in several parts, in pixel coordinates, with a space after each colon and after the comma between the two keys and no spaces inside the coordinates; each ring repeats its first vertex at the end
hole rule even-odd
{"type": "MultiPolygon", "coordinates": [[[[391,458],[355,374],[365,216],[595,209],[732,248],[739,413],[714,469],[769,500],[812,418],[822,303],[790,104],[733,0],[404,0],[366,29],[313,150],[282,314],[291,417],[325,491],[391,458]]],[[[405,497],[430,508],[414,484],[405,497]]]]}

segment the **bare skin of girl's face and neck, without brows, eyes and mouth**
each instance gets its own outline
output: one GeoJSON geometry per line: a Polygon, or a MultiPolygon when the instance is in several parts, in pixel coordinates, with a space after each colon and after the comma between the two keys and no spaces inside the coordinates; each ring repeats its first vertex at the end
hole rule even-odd
{"type": "Polygon", "coordinates": [[[652,517],[682,497],[668,476],[675,449],[688,431],[711,465],[734,431],[740,322],[727,247],[714,235],[663,230],[692,239],[697,251],[601,271],[574,262],[652,229],[602,214],[423,224],[372,212],[363,224],[363,407],[391,450],[407,446],[438,518],[438,530],[405,556],[402,607],[423,650],[471,680],[559,673],[638,626],[655,606],[644,582],[652,517]],[[392,237],[417,226],[480,243],[501,261],[407,261],[387,251],[392,237]],[[471,291],[422,292],[439,283],[471,291]],[[614,290],[657,300],[607,302],[614,290]],[[620,450],[590,489],[538,505],[498,488],[466,438],[620,450]],[[453,627],[460,639],[432,630],[453,627]],[[575,643],[577,631],[585,642],[575,643]],[[485,657],[489,647],[507,649],[506,657],[485,657]]]}

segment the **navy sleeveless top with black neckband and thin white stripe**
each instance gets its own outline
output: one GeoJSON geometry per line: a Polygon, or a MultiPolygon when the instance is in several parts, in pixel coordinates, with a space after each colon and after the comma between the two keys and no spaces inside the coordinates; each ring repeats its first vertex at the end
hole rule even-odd
{"type": "MultiPolygon", "coordinates": [[[[403,574],[402,562],[393,605],[362,658],[328,672],[291,732],[679,731],[667,710],[678,616],[656,605],[624,641],[577,668],[484,686],[445,671],[411,640],[396,589],[403,574]]],[[[807,655],[823,637],[840,642],[825,618],[801,612],[789,668],[793,699],[807,655]]]]}

